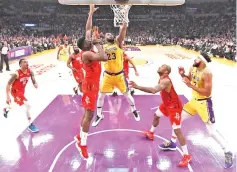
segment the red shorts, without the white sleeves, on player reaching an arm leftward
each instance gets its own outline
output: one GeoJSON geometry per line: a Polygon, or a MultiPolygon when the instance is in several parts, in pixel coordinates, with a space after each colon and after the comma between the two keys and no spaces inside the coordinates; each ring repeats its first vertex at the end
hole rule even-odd
{"type": "Polygon", "coordinates": [[[164,116],[167,116],[170,119],[171,125],[178,126],[181,124],[181,112],[183,110],[182,106],[179,108],[167,108],[164,104],[161,104],[159,106],[159,110],[164,116]]]}

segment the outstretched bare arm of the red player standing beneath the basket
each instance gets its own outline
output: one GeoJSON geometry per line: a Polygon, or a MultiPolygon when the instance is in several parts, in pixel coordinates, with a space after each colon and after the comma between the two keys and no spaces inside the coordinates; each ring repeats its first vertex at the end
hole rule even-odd
{"type": "Polygon", "coordinates": [[[157,92],[160,92],[161,90],[166,89],[167,87],[170,86],[171,82],[169,79],[163,79],[158,85],[155,87],[142,87],[137,85],[135,82],[130,81],[129,83],[133,88],[144,91],[146,93],[152,93],[156,94],[157,92]]]}

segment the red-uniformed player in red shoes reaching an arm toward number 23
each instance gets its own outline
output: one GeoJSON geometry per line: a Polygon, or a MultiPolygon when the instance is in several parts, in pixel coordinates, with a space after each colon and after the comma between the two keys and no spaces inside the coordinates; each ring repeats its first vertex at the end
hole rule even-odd
{"type": "MultiPolygon", "coordinates": [[[[174,89],[171,79],[169,78],[171,72],[170,66],[162,65],[159,67],[157,72],[160,75],[160,80],[159,84],[155,87],[142,87],[138,86],[135,82],[130,82],[130,85],[135,89],[153,94],[160,92],[161,95],[162,103],[155,112],[151,129],[150,131],[144,132],[144,134],[147,138],[153,140],[154,131],[159,124],[160,117],[167,116],[170,119],[172,128],[179,140],[184,154],[182,161],[180,161],[178,165],[180,167],[186,167],[191,161],[191,155],[188,154],[186,140],[181,131],[182,103],[174,89]]],[[[176,149],[176,146],[174,149],[176,149]]]]}

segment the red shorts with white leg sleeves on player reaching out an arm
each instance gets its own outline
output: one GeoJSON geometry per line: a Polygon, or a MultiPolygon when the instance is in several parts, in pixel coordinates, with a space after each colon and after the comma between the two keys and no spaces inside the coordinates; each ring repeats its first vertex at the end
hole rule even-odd
{"type": "Polygon", "coordinates": [[[158,117],[168,117],[173,129],[177,129],[181,127],[181,112],[182,106],[180,106],[179,108],[167,108],[164,106],[164,104],[161,104],[155,114],[158,117]]]}

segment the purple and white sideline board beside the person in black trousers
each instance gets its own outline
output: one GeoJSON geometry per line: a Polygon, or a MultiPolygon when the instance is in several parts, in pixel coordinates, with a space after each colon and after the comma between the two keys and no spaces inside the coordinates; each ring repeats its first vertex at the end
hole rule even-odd
{"type": "Polygon", "coordinates": [[[32,54],[31,46],[17,47],[8,51],[9,60],[18,59],[32,54]]]}

